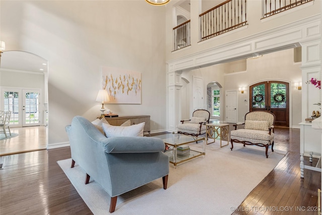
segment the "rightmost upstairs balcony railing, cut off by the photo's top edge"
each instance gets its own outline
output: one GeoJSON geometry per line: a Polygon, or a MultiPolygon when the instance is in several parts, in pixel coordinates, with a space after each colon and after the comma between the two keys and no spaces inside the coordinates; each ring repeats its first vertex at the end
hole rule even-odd
{"type": "Polygon", "coordinates": [[[313,0],[265,0],[263,18],[303,5],[313,0]]]}

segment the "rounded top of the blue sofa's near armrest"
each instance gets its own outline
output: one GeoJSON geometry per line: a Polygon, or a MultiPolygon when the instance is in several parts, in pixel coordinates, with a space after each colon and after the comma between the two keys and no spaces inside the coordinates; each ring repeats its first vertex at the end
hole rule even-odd
{"type": "Polygon", "coordinates": [[[105,153],[155,153],[165,150],[162,139],[146,136],[109,137],[104,143],[105,153]]]}

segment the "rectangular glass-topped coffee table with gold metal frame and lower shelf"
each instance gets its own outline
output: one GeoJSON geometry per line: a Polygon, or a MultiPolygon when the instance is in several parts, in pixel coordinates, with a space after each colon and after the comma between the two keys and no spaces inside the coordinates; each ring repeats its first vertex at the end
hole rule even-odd
{"type": "Polygon", "coordinates": [[[163,139],[166,145],[170,146],[171,149],[164,151],[164,153],[169,156],[170,163],[177,168],[177,164],[188,161],[190,159],[205,155],[206,149],[206,138],[189,136],[180,133],[169,133],[160,134],[153,137],[158,137],[163,139]],[[202,141],[198,144],[202,144],[202,152],[190,149],[188,144],[196,141],[202,141]]]}

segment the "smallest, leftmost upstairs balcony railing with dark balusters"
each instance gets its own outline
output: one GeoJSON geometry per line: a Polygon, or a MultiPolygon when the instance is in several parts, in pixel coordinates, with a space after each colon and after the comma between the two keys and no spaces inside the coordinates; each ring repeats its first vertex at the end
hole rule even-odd
{"type": "Polygon", "coordinates": [[[190,20],[173,28],[174,51],[190,45],[190,20]]]}

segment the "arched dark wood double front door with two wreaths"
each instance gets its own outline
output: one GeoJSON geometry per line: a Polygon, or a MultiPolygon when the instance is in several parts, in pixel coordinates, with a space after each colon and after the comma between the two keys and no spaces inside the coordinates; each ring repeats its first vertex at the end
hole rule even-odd
{"type": "Polygon", "coordinates": [[[289,84],[266,81],[250,86],[250,111],[275,114],[275,125],[289,127],[289,84]]]}

